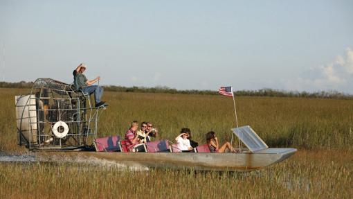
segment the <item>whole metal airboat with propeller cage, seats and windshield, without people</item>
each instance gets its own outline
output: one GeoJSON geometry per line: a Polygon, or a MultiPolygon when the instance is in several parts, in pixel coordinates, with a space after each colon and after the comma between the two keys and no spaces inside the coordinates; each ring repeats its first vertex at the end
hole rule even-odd
{"type": "Polygon", "coordinates": [[[296,153],[296,148],[269,148],[250,126],[231,129],[232,141],[233,136],[239,140],[239,153],[210,153],[206,145],[193,153],[182,153],[168,140],[131,150],[118,135],[97,137],[98,121],[106,105],[95,107],[92,96],[50,78],[35,80],[30,94],[15,96],[15,104],[18,144],[33,151],[38,159],[93,157],[126,166],[253,171],[296,153]]]}

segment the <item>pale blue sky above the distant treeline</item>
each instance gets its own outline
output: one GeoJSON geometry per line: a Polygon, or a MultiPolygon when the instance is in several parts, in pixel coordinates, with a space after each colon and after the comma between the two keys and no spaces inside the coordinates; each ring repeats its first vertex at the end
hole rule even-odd
{"type": "Polygon", "coordinates": [[[353,94],[353,1],[0,1],[1,80],[353,94]]]}

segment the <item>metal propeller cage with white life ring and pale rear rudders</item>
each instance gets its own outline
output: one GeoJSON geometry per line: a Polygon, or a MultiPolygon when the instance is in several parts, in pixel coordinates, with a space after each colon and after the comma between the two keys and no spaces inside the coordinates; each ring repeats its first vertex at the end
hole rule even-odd
{"type": "Polygon", "coordinates": [[[103,108],[71,85],[39,78],[24,96],[15,96],[19,145],[32,149],[85,148],[97,137],[103,108]]]}

